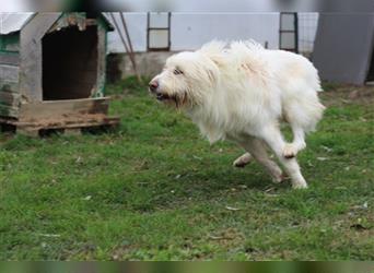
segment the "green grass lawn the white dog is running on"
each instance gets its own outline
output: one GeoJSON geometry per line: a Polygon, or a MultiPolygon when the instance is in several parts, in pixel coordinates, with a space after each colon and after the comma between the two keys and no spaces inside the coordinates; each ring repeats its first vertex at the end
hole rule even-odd
{"type": "Polygon", "coordinates": [[[374,88],[326,87],[307,190],[232,167],[133,79],[108,86],[115,132],[0,134],[0,260],[373,260],[374,88]]]}

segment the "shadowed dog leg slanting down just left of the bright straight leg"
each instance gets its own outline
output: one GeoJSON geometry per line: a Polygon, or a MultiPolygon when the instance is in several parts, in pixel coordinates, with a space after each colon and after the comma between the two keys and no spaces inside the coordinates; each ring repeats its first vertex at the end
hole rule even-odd
{"type": "Polygon", "coordinates": [[[242,143],[243,147],[250,153],[250,155],[261,164],[270,174],[274,182],[281,182],[284,178],[281,168],[270,159],[266,146],[261,140],[250,138],[248,141],[242,143]]]}

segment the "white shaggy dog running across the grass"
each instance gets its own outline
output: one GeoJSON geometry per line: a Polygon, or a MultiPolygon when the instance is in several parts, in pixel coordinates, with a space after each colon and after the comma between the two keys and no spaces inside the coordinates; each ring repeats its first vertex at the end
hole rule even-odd
{"type": "Polygon", "coordinates": [[[284,177],[269,158],[270,147],[284,166],[293,188],[306,188],[295,155],[305,147],[305,133],[315,129],[325,107],[319,103],[317,70],[300,55],[268,50],[255,41],[211,41],[195,52],[166,60],[150,82],[159,100],[182,108],[213,143],[232,140],[252,156],[274,181],[284,177]],[[279,121],[288,122],[292,143],[283,140],[279,121]]]}

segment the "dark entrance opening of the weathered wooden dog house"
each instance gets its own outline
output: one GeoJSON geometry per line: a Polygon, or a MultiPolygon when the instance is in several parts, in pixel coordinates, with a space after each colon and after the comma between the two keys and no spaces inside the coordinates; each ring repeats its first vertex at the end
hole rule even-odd
{"type": "Polygon", "coordinates": [[[71,26],[43,38],[43,99],[87,98],[97,79],[97,26],[71,26]]]}

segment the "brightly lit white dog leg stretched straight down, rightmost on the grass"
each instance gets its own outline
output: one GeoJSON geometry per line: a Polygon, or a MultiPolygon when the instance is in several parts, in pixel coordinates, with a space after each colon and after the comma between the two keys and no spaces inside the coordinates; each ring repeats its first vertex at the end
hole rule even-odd
{"type": "Polygon", "coordinates": [[[292,187],[295,189],[307,188],[306,181],[301,174],[300,166],[295,157],[285,158],[283,151],[287,143],[277,126],[264,128],[260,132],[260,138],[268,144],[268,146],[276,153],[279,161],[284,166],[288,175],[291,178],[292,187]]]}

